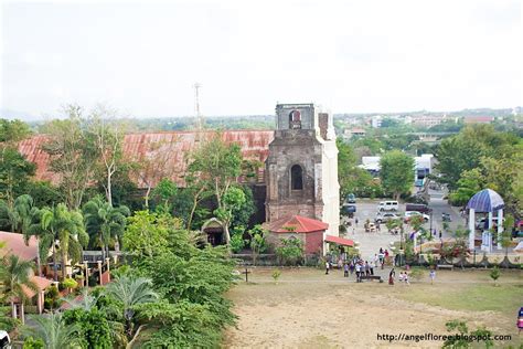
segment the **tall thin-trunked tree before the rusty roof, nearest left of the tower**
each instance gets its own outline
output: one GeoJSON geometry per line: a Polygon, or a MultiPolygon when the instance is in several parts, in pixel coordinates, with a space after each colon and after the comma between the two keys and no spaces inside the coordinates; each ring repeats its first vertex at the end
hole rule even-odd
{"type": "MultiPolygon", "coordinates": [[[[233,202],[225,201],[224,197],[242,173],[242,152],[239,146],[237,144],[226,144],[222,139],[221,134],[215,134],[203,141],[192,154],[190,169],[209,183],[207,187],[212,188],[216,199],[216,212],[224,215],[226,221],[230,222],[225,215],[231,211],[233,202]]],[[[238,197],[235,191],[230,195],[231,199],[233,197],[238,197]]],[[[224,224],[223,229],[225,242],[228,244],[231,240],[228,225],[224,224]]]]}

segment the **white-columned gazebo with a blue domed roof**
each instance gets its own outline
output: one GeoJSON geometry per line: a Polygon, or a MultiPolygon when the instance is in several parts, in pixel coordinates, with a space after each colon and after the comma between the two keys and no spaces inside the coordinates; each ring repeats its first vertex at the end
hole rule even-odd
{"type": "MultiPolygon", "coordinates": [[[[498,235],[503,231],[503,208],[505,203],[499,193],[492,189],[478,191],[467,203],[469,210],[469,248],[474,248],[476,212],[489,213],[487,230],[492,229],[492,215],[498,211],[498,235]]],[[[481,250],[492,251],[492,233],[484,231],[482,235],[481,250]]],[[[498,239],[498,250],[501,250],[501,241],[498,239]]]]}

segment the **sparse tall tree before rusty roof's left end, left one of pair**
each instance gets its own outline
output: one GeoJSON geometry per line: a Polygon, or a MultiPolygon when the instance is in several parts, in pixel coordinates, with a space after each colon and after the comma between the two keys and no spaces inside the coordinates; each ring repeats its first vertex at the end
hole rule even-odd
{"type": "Polygon", "coordinates": [[[44,126],[43,131],[50,139],[42,148],[51,156],[51,170],[61,177],[65,203],[76,210],[94,178],[99,151],[95,137],[83,125],[83,109],[68,105],[65,114],[67,119],[44,126]]]}

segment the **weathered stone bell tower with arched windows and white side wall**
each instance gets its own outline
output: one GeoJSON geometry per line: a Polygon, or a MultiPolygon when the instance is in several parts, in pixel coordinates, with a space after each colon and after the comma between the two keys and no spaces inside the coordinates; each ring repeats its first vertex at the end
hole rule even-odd
{"type": "Polygon", "coordinates": [[[291,214],[329,224],[338,236],[340,186],[332,116],[313,104],[278,104],[266,161],[267,221],[291,214]]]}

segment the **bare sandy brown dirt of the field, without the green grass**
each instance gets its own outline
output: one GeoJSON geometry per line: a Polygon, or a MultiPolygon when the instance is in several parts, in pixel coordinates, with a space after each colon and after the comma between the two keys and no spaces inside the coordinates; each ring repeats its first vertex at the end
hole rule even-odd
{"type": "Polygon", "coordinates": [[[377,335],[445,335],[445,322],[453,318],[517,336],[515,318],[510,316],[402,299],[402,294],[416,285],[340,283],[338,276],[325,279],[314,269],[290,272],[275,285],[268,271],[258,274],[252,277],[255,284],[241,284],[230,293],[239,320],[237,328],[227,330],[225,347],[440,348],[441,341],[388,342],[378,340],[377,335]]]}

